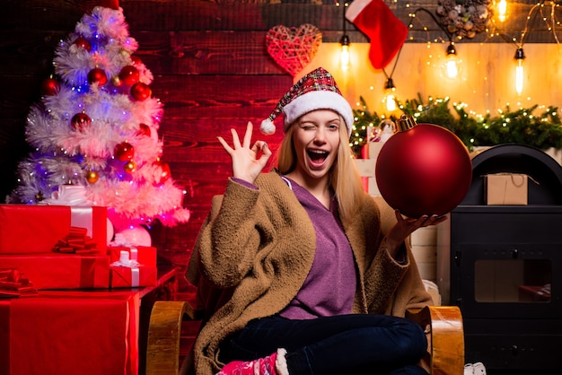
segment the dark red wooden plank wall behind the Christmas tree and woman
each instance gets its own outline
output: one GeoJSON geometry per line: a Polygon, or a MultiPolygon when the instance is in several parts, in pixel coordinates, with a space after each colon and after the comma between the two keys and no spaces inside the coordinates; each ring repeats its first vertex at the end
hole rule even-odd
{"type": "MultiPolygon", "coordinates": [[[[420,6],[434,11],[435,0],[389,2],[404,23],[420,6]],[[407,6],[408,4],[408,6],[407,6]]],[[[91,0],[4,0],[0,13],[0,196],[15,187],[17,162],[28,152],[25,117],[40,100],[40,82],[51,73],[59,39],[74,31],[75,22],[93,6],[91,0]]],[[[154,245],[178,253],[175,262],[189,257],[211,196],[221,193],[230,162],[216,141],[228,129],[259,124],[293,83],[268,56],[265,34],[277,24],[299,26],[308,22],[322,32],[324,42],[338,42],[343,25],[341,8],[331,0],[123,0],[131,36],[139,42],[137,55],[154,74],[155,97],[164,104],[160,135],[163,157],[172,177],[188,191],[184,205],[191,220],[174,228],[154,225],[154,245]]],[[[511,18],[502,25],[505,35],[516,36],[534,2],[511,2],[511,18]]],[[[368,39],[349,22],[353,43],[368,39]]],[[[443,39],[435,22],[419,14],[408,42],[443,39]],[[423,29],[426,27],[426,30],[423,29]]],[[[496,37],[495,42],[501,42],[496,37]]],[[[485,41],[486,36],[466,42],[485,41]]],[[[555,42],[543,24],[529,42],[555,42]]],[[[279,136],[268,139],[275,147],[279,136]]]]}

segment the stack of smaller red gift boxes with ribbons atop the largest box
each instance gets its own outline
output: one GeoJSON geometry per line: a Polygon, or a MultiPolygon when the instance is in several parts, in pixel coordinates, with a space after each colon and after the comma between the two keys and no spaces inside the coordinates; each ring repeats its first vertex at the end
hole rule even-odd
{"type": "Polygon", "coordinates": [[[115,249],[108,248],[107,231],[106,207],[0,205],[0,268],[22,273],[37,290],[154,285],[156,250],[136,249],[142,260],[111,266],[115,249]],[[114,274],[136,274],[141,267],[154,276],[113,283],[114,274]]]}

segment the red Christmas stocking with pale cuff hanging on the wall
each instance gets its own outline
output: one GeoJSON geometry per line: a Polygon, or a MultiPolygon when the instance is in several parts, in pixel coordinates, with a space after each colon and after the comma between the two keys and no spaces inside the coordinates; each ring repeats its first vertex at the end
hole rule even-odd
{"type": "Polygon", "coordinates": [[[355,0],[346,18],[369,38],[369,60],[375,69],[388,65],[408,36],[408,27],[382,0],[355,0]]]}

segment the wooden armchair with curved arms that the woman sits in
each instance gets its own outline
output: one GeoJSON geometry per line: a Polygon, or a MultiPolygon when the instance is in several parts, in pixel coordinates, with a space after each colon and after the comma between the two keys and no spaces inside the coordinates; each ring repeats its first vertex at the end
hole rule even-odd
{"type": "MultiPolygon", "coordinates": [[[[193,358],[180,363],[181,325],[198,320],[198,311],[186,301],[156,301],[150,317],[146,350],[146,375],[191,375],[193,358]]],[[[460,375],[464,368],[461,310],[455,306],[428,306],[410,310],[407,318],[426,331],[427,353],[422,363],[432,375],[460,375]]]]}

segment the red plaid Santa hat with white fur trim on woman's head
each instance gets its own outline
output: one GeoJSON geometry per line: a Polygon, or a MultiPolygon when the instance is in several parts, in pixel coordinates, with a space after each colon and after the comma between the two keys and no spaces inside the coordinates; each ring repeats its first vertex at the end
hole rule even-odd
{"type": "Polygon", "coordinates": [[[279,100],[269,117],[261,122],[259,129],[265,135],[274,134],[276,130],[274,120],[283,113],[285,133],[294,120],[316,109],[331,109],[338,112],[346,123],[347,135],[351,135],[353,110],[339,92],[334,77],[322,67],[304,75],[299,82],[294,83],[291,90],[279,100]]]}

